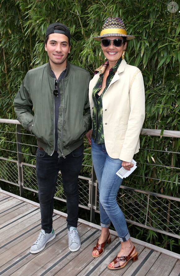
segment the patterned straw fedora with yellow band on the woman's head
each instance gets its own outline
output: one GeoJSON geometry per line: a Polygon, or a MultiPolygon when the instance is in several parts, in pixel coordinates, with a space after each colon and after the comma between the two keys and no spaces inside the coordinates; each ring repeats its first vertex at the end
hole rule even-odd
{"type": "Polygon", "coordinates": [[[124,36],[127,40],[135,38],[135,36],[127,34],[124,22],[119,17],[108,17],[102,27],[100,36],[95,36],[93,38],[101,40],[103,37],[110,36],[124,36]]]}

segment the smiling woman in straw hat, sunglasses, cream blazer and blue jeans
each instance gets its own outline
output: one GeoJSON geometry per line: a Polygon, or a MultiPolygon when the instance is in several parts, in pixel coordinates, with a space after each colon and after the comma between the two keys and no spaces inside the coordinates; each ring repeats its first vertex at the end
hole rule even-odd
{"type": "Polygon", "coordinates": [[[116,172],[133,167],[133,155],[139,151],[139,135],[145,117],[145,95],[141,71],[127,65],[124,52],[127,35],[120,18],[107,18],[100,36],[101,49],[107,61],[96,69],[89,84],[92,130],[87,138],[92,148],[92,162],[98,181],[101,236],[92,256],[99,257],[110,243],[109,226],[113,223],[121,248],[109,269],[120,269],[129,260],[137,260],[136,249],[130,240],[124,214],[116,196],[122,179],[116,172]]]}

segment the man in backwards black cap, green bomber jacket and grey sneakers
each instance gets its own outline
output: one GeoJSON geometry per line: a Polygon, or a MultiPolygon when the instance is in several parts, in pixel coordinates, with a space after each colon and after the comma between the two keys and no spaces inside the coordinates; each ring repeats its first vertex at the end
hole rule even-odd
{"type": "Polygon", "coordinates": [[[45,50],[49,62],[27,72],[14,100],[17,120],[34,134],[38,144],[36,175],[42,230],[30,252],[40,252],[55,238],[53,197],[59,170],[67,199],[69,249],[77,251],[78,175],[83,160],[83,134],[91,128],[91,77],[88,71],[67,61],[70,30],[65,25],[53,23],[47,27],[45,50]]]}

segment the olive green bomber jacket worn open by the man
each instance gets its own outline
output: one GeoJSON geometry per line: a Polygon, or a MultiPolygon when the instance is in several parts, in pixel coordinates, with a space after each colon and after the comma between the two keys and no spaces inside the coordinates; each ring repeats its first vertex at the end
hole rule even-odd
{"type": "MultiPolygon", "coordinates": [[[[67,61],[65,77],[59,82],[59,156],[65,157],[82,145],[84,132],[92,127],[88,99],[90,80],[87,70],[67,61]]],[[[27,72],[14,99],[17,120],[34,134],[38,146],[48,155],[52,155],[55,148],[54,85],[48,62],[27,72]]]]}

